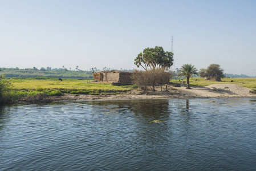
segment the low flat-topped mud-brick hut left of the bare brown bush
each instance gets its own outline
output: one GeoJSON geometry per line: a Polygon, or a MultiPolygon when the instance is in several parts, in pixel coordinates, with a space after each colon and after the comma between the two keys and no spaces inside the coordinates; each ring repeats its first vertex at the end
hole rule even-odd
{"type": "Polygon", "coordinates": [[[101,71],[94,72],[94,80],[97,82],[112,82],[112,83],[125,83],[131,84],[132,72],[123,71],[101,71]]]}

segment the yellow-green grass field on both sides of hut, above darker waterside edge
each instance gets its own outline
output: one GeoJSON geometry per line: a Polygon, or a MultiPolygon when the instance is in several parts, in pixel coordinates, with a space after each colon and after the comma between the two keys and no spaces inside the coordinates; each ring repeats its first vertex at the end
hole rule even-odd
{"type": "MultiPolygon", "coordinates": [[[[185,79],[184,79],[185,80],[185,79]]],[[[242,87],[256,88],[256,78],[225,78],[221,82],[205,80],[204,78],[190,78],[192,86],[209,86],[212,84],[237,84],[242,87]],[[197,79],[197,81],[196,81],[197,79]],[[231,82],[233,80],[233,82],[231,82]]],[[[112,86],[110,83],[97,83],[92,80],[63,79],[63,82],[51,79],[10,79],[13,89],[17,91],[35,91],[36,89],[47,90],[103,90],[103,91],[128,91],[132,86],[112,86]]],[[[176,80],[170,80],[176,82],[176,80]]]]}

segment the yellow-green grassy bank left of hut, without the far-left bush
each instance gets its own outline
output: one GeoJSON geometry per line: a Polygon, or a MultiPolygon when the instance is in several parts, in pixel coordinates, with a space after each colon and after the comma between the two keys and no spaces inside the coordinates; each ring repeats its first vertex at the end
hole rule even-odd
{"type": "Polygon", "coordinates": [[[17,96],[35,96],[44,93],[47,96],[70,94],[115,94],[131,90],[131,86],[112,86],[110,83],[95,83],[92,80],[63,79],[10,79],[13,93],[17,96]]]}

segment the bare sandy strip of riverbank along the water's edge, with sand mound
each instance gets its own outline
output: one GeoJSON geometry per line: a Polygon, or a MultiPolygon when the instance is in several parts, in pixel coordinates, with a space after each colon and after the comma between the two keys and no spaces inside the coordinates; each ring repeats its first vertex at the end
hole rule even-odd
{"type": "Polygon", "coordinates": [[[168,86],[168,91],[164,91],[163,87],[156,91],[140,91],[132,89],[128,92],[123,92],[117,95],[71,95],[64,93],[63,96],[42,96],[39,95],[33,99],[24,98],[20,102],[51,102],[51,101],[76,101],[76,100],[125,100],[125,99],[192,99],[192,98],[208,98],[208,97],[256,97],[250,93],[250,88],[241,87],[237,84],[213,84],[210,86],[185,87],[168,86]]]}

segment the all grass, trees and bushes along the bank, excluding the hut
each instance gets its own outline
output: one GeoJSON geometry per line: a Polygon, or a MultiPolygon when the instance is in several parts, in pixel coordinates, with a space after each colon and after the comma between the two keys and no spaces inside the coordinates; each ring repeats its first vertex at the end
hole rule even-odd
{"type": "MultiPolygon", "coordinates": [[[[186,78],[189,86],[208,86],[211,84],[238,84],[242,87],[251,88],[256,93],[256,78],[225,78],[223,71],[218,64],[211,64],[207,69],[202,68],[198,75],[197,69],[192,64],[184,64],[180,69],[168,71],[173,64],[173,53],[164,51],[162,47],[145,48],[135,59],[137,67],[143,67],[145,71],[135,71],[132,76],[134,86],[112,86],[110,83],[92,82],[92,71],[82,71],[76,66],[75,70],[66,68],[0,68],[0,104],[13,103],[20,99],[27,101],[42,101],[49,96],[62,96],[64,93],[73,95],[113,95],[130,91],[132,88],[147,90],[148,87],[155,91],[156,87],[166,86],[169,82],[177,82],[177,79],[186,78]],[[7,76],[7,79],[5,78],[7,76]],[[178,77],[174,77],[178,76],[178,77]],[[176,78],[170,80],[170,78],[176,78]],[[61,78],[61,79],[59,79],[61,78]],[[208,80],[205,80],[205,79],[208,80]],[[217,79],[224,78],[224,79],[217,79]],[[220,80],[221,82],[216,82],[220,80]]],[[[94,71],[99,71],[97,68],[94,71]]],[[[104,67],[103,70],[111,70],[104,67]]],[[[122,70],[122,69],[121,69],[122,70]]],[[[127,70],[122,70],[127,71],[127,70]]],[[[183,81],[183,80],[182,80],[183,81]]],[[[46,101],[45,101],[46,102],[46,101]]]]}

